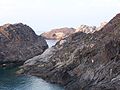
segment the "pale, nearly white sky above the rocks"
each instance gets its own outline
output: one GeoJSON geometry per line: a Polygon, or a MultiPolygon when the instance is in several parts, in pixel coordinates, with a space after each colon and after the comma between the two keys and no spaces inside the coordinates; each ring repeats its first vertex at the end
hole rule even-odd
{"type": "Polygon", "coordinates": [[[120,13],[120,0],[1,0],[0,25],[24,23],[39,35],[54,28],[99,26],[120,13]]]}

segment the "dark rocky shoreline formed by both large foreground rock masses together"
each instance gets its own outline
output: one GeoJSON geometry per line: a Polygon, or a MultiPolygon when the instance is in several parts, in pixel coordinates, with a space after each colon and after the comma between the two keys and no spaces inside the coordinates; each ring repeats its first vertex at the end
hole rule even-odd
{"type": "Polygon", "coordinates": [[[27,25],[0,27],[0,67],[22,65],[17,74],[38,76],[65,90],[120,90],[120,14],[100,30],[70,34],[47,48],[27,25]]]}

